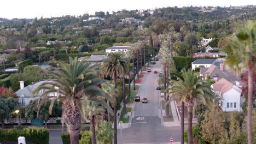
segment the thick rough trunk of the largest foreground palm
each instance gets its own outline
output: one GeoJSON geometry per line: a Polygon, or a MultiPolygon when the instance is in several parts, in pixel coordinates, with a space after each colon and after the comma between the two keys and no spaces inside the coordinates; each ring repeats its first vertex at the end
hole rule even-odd
{"type": "Polygon", "coordinates": [[[76,103],[74,104],[74,108],[69,104],[69,101],[66,101],[64,104],[66,106],[64,118],[70,135],[70,143],[79,144],[79,134],[81,131],[80,111],[76,103]],[[70,115],[70,113],[72,114],[70,115]]]}

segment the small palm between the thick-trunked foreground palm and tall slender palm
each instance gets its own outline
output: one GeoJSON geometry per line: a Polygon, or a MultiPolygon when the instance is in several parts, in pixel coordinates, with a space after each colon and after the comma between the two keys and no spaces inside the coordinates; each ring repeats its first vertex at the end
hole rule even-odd
{"type": "Polygon", "coordinates": [[[95,101],[88,101],[88,105],[85,105],[84,109],[84,121],[86,119],[90,120],[91,125],[91,143],[96,144],[96,137],[95,137],[95,121],[99,122],[101,116],[104,115],[105,109],[103,106],[100,106],[95,101]]]}

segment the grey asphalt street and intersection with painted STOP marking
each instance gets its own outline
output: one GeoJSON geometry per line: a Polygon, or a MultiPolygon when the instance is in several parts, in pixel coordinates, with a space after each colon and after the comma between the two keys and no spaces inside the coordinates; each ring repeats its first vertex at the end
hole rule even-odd
{"type": "MultiPolygon", "coordinates": [[[[156,90],[158,74],[154,70],[162,71],[160,62],[151,67],[152,72],[144,78],[139,96],[147,97],[148,103],[135,103],[131,127],[122,130],[123,143],[162,143],[170,142],[172,137],[180,141],[180,127],[164,127],[160,115],[160,91],[156,90]]],[[[118,130],[118,143],[121,143],[120,129],[118,130]]]]}

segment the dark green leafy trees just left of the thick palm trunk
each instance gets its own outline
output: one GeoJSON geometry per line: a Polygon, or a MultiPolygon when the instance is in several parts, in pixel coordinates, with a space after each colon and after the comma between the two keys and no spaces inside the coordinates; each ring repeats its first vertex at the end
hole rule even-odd
{"type": "Polygon", "coordinates": [[[38,100],[30,100],[30,103],[26,106],[26,115],[30,119],[39,118],[44,120],[45,128],[47,128],[47,121],[50,117],[61,117],[61,106],[57,104],[57,101],[53,104],[52,113],[49,115],[49,107],[51,100],[46,100],[41,105],[38,105],[38,100]]]}

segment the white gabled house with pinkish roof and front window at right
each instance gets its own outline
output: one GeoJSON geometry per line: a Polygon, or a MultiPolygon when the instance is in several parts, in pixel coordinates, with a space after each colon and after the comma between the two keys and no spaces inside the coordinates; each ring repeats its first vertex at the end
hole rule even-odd
{"type": "Polygon", "coordinates": [[[213,92],[222,98],[220,106],[223,111],[242,111],[241,105],[245,101],[241,97],[242,90],[226,79],[220,79],[211,85],[213,92]]]}

